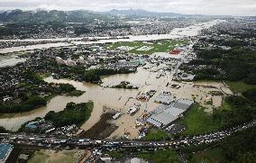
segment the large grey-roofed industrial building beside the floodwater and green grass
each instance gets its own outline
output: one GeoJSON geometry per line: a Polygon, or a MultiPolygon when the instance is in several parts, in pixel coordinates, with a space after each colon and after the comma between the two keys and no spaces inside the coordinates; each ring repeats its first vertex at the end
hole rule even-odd
{"type": "Polygon", "coordinates": [[[179,99],[173,104],[158,106],[152,113],[151,117],[147,119],[152,125],[162,128],[168,126],[179,118],[182,113],[185,113],[194,102],[187,99],[179,99]]]}

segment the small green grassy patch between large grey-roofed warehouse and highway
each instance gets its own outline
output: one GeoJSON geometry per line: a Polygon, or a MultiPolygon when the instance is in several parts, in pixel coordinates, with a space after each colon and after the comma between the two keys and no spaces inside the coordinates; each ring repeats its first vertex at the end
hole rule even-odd
{"type": "Polygon", "coordinates": [[[152,128],[144,138],[145,140],[166,140],[169,138],[169,135],[164,132],[160,131],[159,129],[152,128]]]}

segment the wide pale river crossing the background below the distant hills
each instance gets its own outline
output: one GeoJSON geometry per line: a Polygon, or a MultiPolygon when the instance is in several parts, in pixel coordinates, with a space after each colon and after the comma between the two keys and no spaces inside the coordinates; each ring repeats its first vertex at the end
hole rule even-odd
{"type": "Polygon", "coordinates": [[[81,41],[83,38],[55,38],[55,39],[25,39],[25,40],[0,40],[0,41],[69,41],[68,42],[58,42],[58,43],[45,43],[37,45],[29,45],[23,47],[13,47],[0,49],[0,54],[23,51],[23,50],[38,50],[51,47],[62,47],[62,46],[71,46],[78,44],[94,44],[94,43],[107,43],[107,42],[118,42],[118,41],[152,41],[152,40],[161,40],[161,39],[178,39],[184,37],[197,36],[197,34],[203,30],[207,29],[217,23],[224,22],[223,20],[215,20],[207,23],[198,23],[196,25],[191,25],[186,28],[175,28],[169,34],[151,34],[151,35],[129,35],[129,39],[110,39],[107,37],[94,37],[89,39],[98,39],[98,41],[81,41]]]}

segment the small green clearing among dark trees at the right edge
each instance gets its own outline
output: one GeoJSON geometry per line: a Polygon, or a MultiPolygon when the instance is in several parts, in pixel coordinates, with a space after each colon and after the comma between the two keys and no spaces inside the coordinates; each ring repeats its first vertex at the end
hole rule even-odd
{"type": "Polygon", "coordinates": [[[247,91],[248,89],[251,89],[251,88],[256,88],[255,85],[254,86],[253,85],[247,85],[243,81],[236,81],[236,82],[225,81],[225,83],[228,86],[230,86],[230,89],[233,91],[234,94],[245,92],[245,91],[247,91]]]}

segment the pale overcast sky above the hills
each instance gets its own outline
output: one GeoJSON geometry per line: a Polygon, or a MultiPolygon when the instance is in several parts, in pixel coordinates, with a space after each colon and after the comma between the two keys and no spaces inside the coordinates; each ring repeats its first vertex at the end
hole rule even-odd
{"type": "Polygon", "coordinates": [[[0,9],[108,11],[145,9],[178,14],[256,15],[256,0],[0,0],[0,9]]]}

